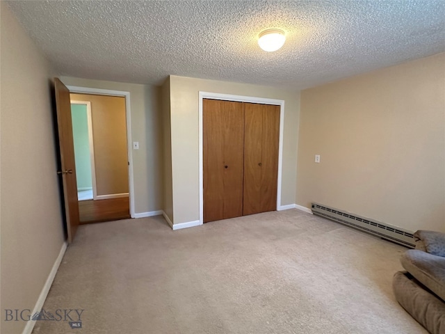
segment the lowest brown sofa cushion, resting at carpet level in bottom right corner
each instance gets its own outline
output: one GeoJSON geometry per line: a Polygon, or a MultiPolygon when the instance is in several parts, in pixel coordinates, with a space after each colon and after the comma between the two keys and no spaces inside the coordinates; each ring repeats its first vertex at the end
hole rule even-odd
{"type": "Polygon", "coordinates": [[[409,273],[398,271],[393,280],[398,303],[432,334],[445,333],[445,303],[423,289],[409,273]]]}

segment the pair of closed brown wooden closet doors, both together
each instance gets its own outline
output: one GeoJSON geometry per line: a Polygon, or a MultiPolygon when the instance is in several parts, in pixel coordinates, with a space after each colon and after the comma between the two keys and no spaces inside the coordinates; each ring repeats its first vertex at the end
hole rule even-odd
{"type": "Polygon", "coordinates": [[[204,223],[277,207],[280,106],[202,101],[204,223]]]}

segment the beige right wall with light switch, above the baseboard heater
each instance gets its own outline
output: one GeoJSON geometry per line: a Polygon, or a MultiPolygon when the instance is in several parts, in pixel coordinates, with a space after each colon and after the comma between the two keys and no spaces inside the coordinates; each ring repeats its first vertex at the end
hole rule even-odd
{"type": "Polygon", "coordinates": [[[445,232],[444,74],[438,54],[302,91],[297,204],[445,232]]]}

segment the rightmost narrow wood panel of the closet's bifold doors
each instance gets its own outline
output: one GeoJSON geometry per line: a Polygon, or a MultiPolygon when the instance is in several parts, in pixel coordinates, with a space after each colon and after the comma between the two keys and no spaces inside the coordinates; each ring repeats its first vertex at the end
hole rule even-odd
{"type": "Polygon", "coordinates": [[[280,106],[263,106],[261,138],[261,212],[277,209],[278,146],[280,142],[280,106]]]}

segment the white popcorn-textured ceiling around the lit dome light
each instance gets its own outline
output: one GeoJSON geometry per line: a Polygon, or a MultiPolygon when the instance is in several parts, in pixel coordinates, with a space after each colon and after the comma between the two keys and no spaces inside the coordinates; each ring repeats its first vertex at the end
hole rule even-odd
{"type": "Polygon", "coordinates": [[[296,89],[445,51],[443,0],[8,1],[62,75],[296,89]],[[280,28],[279,51],[257,35],[280,28]]]}

